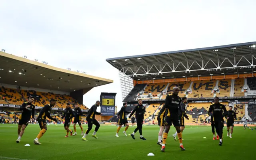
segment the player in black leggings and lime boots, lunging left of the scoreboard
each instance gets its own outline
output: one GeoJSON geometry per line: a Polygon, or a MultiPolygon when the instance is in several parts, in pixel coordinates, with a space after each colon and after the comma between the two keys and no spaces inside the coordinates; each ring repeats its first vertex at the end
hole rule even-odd
{"type": "Polygon", "coordinates": [[[98,139],[98,137],[96,136],[96,132],[98,131],[98,129],[100,128],[100,124],[99,122],[95,119],[95,115],[102,115],[102,113],[97,112],[97,107],[100,106],[100,101],[96,101],[95,105],[93,105],[89,111],[88,111],[88,115],[86,117],[87,120],[87,124],[88,124],[88,129],[85,131],[84,136],[82,137],[82,140],[86,140],[86,136],[87,134],[90,132],[90,130],[92,130],[92,124],[96,125],[95,130],[92,134],[92,137],[98,139]]]}

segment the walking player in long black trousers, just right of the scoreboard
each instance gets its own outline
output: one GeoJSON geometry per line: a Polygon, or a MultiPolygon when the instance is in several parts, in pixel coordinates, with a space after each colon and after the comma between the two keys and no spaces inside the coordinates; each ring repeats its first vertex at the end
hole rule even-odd
{"type": "Polygon", "coordinates": [[[135,133],[139,130],[140,132],[140,139],[146,140],[142,136],[142,125],[143,125],[143,119],[144,119],[144,113],[146,112],[145,107],[142,105],[142,99],[138,100],[139,105],[137,105],[133,110],[132,113],[130,114],[129,118],[132,117],[132,115],[135,113],[135,118],[137,120],[137,128],[135,128],[134,132],[131,134],[132,138],[135,139],[134,135],[135,133]]]}

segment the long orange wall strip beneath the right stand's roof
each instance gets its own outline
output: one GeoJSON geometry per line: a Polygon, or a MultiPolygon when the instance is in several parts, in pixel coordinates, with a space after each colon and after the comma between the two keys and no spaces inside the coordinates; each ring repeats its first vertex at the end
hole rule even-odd
{"type": "Polygon", "coordinates": [[[214,75],[214,76],[198,76],[198,77],[185,77],[185,78],[170,78],[170,79],[149,79],[149,80],[139,80],[138,84],[143,83],[168,83],[168,82],[182,82],[182,81],[198,81],[198,80],[208,80],[208,79],[235,79],[253,77],[252,73],[249,74],[239,74],[239,75],[214,75]]]}

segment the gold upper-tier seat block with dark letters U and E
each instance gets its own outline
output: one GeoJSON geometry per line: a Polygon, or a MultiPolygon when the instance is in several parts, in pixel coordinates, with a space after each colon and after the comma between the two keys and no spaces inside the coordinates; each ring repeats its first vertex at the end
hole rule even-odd
{"type": "Polygon", "coordinates": [[[216,80],[201,80],[194,81],[192,84],[191,94],[188,95],[188,98],[193,97],[213,97],[212,90],[216,85],[216,80]]]}

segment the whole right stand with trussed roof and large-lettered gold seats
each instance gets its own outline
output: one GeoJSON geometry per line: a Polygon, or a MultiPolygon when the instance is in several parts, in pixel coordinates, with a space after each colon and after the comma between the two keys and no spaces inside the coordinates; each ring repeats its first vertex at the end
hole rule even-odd
{"type": "MultiPolygon", "coordinates": [[[[160,105],[164,103],[167,94],[172,94],[172,88],[177,86],[180,88],[179,96],[188,97],[188,116],[191,119],[186,122],[205,123],[209,119],[210,102],[215,96],[220,97],[220,101],[225,101],[222,103],[226,109],[229,105],[234,106],[238,119],[247,116],[246,101],[255,99],[256,77],[254,77],[255,71],[252,70],[255,66],[252,68],[252,65],[247,63],[250,61],[251,55],[244,53],[252,52],[254,47],[255,42],[249,42],[116,57],[106,59],[106,61],[127,77],[135,80],[134,84],[146,85],[142,95],[139,95],[139,91],[135,89],[130,92],[132,98],[128,103],[131,105],[136,103],[136,99],[140,97],[144,99],[144,103],[160,105]],[[234,54],[234,49],[243,52],[234,54]],[[212,57],[213,54],[216,55],[215,58],[212,57]],[[241,56],[243,56],[243,60],[241,60],[241,56]],[[236,61],[236,59],[240,59],[236,66],[227,62],[236,61]],[[130,62],[129,66],[127,61],[130,62]],[[245,80],[246,78],[247,80],[245,80]],[[246,85],[248,85],[248,90],[246,85]],[[136,95],[139,96],[136,97],[136,95]],[[244,98],[244,96],[247,97],[244,98]]],[[[255,61],[255,59],[253,60],[255,61]]],[[[128,97],[124,99],[124,101],[126,100],[128,97]]],[[[147,112],[150,111],[150,113],[155,110],[152,105],[147,108],[147,112]]],[[[156,121],[159,111],[158,109],[151,117],[147,116],[147,120],[152,118],[156,121]]],[[[252,114],[254,113],[252,112],[252,114]]]]}

